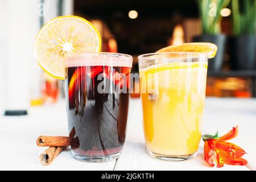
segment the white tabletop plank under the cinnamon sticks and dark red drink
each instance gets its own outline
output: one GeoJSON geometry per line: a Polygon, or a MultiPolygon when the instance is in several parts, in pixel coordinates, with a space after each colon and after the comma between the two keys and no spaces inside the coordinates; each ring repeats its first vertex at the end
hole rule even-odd
{"type": "Polygon", "coordinates": [[[39,163],[47,147],[37,147],[39,135],[68,135],[65,102],[55,106],[35,107],[27,116],[0,118],[0,170],[113,170],[109,163],[84,163],[71,151],[63,151],[49,166],[39,163]]]}

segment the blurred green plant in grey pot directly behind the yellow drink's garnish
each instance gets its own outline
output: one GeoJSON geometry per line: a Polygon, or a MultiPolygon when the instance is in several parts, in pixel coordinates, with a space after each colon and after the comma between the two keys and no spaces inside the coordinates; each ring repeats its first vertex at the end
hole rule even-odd
{"type": "Polygon", "coordinates": [[[230,0],[198,0],[202,34],[193,38],[194,42],[210,42],[218,46],[216,56],[209,60],[208,70],[220,71],[225,51],[226,36],[221,34],[220,11],[228,7],[230,0]]]}

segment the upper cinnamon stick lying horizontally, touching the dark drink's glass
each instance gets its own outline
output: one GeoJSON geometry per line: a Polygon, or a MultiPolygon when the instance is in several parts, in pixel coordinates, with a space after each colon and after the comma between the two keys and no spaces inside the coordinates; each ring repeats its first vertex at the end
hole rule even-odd
{"type": "Polygon", "coordinates": [[[67,147],[70,145],[69,137],[40,136],[36,139],[39,147],[67,147]]]}

